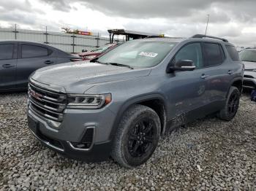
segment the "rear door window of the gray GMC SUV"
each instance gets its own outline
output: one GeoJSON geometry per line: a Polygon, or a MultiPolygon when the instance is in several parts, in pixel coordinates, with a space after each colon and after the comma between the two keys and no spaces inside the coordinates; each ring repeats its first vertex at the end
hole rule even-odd
{"type": "Polygon", "coordinates": [[[203,43],[206,61],[205,67],[216,66],[224,61],[224,52],[219,44],[203,43]]]}

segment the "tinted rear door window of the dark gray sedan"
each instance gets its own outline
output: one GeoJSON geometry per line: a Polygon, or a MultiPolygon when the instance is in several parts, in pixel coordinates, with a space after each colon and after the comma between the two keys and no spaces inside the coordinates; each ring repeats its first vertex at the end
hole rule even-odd
{"type": "Polygon", "coordinates": [[[21,52],[22,58],[34,58],[48,55],[47,48],[29,44],[22,44],[21,52]]]}

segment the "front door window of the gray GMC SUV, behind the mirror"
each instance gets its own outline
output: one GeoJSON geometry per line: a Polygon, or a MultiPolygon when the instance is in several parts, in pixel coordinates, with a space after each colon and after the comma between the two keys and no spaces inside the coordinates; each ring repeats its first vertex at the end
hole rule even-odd
{"type": "Polygon", "coordinates": [[[176,54],[173,62],[176,63],[180,60],[193,61],[196,69],[203,68],[203,55],[200,43],[187,44],[182,47],[176,54]]]}

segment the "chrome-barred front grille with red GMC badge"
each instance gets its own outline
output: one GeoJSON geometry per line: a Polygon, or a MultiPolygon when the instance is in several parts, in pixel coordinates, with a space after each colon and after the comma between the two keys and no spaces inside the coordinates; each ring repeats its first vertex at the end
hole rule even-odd
{"type": "Polygon", "coordinates": [[[61,122],[67,105],[67,95],[42,89],[29,83],[29,101],[33,112],[50,120],[61,122]]]}

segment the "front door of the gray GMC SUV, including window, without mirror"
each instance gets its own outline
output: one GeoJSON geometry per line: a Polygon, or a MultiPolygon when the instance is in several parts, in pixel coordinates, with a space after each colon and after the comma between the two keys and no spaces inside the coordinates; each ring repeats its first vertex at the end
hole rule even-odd
{"type": "MultiPolygon", "coordinates": [[[[187,44],[174,56],[172,64],[180,60],[193,61],[196,69],[194,71],[176,71],[170,75],[170,90],[168,100],[170,103],[170,118],[186,115],[200,108],[206,102],[206,81],[201,78],[203,68],[203,53],[200,43],[187,44]]],[[[192,118],[200,116],[199,113],[192,114],[192,118]]],[[[181,119],[181,121],[187,121],[181,119]]],[[[182,122],[181,122],[182,123],[182,122]]]]}

